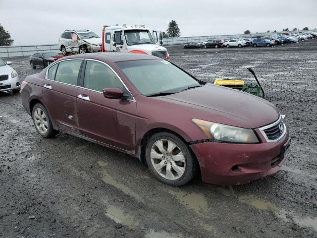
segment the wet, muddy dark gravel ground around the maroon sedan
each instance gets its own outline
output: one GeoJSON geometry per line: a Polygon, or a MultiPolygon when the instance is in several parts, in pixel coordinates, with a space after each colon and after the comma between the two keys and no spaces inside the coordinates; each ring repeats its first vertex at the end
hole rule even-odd
{"type": "MultiPolygon", "coordinates": [[[[252,80],[286,114],[291,155],[274,176],[227,187],[159,183],[137,159],[59,134],[40,137],[19,94],[0,93],[0,237],[317,237],[317,39],[271,48],[168,47],[197,78],[252,80]]],[[[40,72],[12,60],[20,77],[40,72]]],[[[260,109],[259,109],[260,110],[260,109]]]]}

